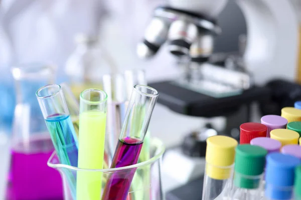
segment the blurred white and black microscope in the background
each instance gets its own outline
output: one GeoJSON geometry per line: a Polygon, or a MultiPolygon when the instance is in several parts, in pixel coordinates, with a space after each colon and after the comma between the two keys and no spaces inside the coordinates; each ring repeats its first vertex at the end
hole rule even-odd
{"type": "MultiPolygon", "coordinates": [[[[157,7],[143,40],[137,45],[137,54],[140,58],[151,59],[160,51],[167,50],[182,69],[182,75],[174,80],[149,84],[160,92],[159,103],[191,116],[225,116],[226,127],[216,134],[239,139],[239,125],[253,120],[251,106],[257,103],[263,110],[268,110],[277,85],[282,85],[283,92],[278,92],[279,95],[287,91],[282,79],[286,83],[294,80],[298,21],[289,0],[236,2],[246,19],[247,39],[241,59],[230,67],[213,61],[214,38],[222,32],[216,18],[227,0],[169,0],[167,5],[157,7]]],[[[215,133],[211,124],[201,129],[185,138],[183,152],[186,155],[204,155],[206,134],[215,133]]],[[[174,173],[181,170],[179,166],[174,168],[171,169],[174,173]]],[[[182,179],[194,179],[193,176],[201,173],[198,170],[197,175],[193,174],[193,170],[199,168],[194,163],[188,168],[191,171],[182,174],[182,179]]],[[[203,179],[194,181],[202,183],[203,179]]],[[[199,194],[200,188],[202,186],[198,185],[196,189],[199,194]]],[[[172,195],[177,198],[170,197],[171,200],[199,199],[192,196],[192,190],[187,193],[178,189],[172,195]]]]}

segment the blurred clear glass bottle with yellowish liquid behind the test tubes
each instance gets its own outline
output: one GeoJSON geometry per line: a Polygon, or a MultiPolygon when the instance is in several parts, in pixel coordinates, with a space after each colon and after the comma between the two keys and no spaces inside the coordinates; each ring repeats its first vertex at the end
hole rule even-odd
{"type": "Polygon", "coordinates": [[[65,72],[72,92],[79,99],[80,93],[85,89],[101,89],[101,76],[114,72],[115,65],[96,36],[78,34],[75,41],[76,48],[67,59],[65,72]]]}

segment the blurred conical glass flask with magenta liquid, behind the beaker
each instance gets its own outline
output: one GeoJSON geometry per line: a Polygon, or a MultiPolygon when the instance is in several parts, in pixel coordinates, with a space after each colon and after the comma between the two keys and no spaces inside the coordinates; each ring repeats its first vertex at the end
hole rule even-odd
{"type": "Polygon", "coordinates": [[[12,68],[17,105],[13,120],[9,199],[62,199],[60,174],[47,166],[54,146],[47,130],[36,90],[52,83],[55,67],[26,64],[12,68]]]}

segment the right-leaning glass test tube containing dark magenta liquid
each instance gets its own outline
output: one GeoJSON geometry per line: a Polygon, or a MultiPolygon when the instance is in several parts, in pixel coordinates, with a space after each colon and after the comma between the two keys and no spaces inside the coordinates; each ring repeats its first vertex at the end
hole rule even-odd
{"type": "MultiPolygon", "coordinates": [[[[111,168],[137,163],[158,95],[158,91],[152,87],[134,86],[111,168]]],[[[126,176],[111,174],[104,188],[102,200],[125,200],[134,173],[135,169],[131,169],[126,176]]]]}

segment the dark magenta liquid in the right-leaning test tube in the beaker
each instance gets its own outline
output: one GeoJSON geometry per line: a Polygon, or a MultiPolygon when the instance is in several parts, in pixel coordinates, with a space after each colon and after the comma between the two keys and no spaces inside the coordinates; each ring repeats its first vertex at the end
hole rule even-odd
{"type": "MultiPolygon", "coordinates": [[[[130,137],[118,141],[111,168],[136,164],[143,142],[130,137]]],[[[102,200],[125,200],[136,168],[112,173],[105,185],[102,200]]]]}

